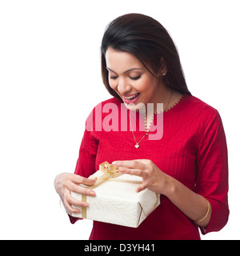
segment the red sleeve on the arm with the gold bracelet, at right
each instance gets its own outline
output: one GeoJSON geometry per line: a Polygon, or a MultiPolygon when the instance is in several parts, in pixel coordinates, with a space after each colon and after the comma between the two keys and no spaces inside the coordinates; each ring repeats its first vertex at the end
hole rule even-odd
{"type": "Polygon", "coordinates": [[[202,234],[218,231],[226,225],[228,207],[228,158],[226,137],[218,111],[210,117],[200,138],[197,152],[196,193],[209,200],[212,214],[202,234]]]}

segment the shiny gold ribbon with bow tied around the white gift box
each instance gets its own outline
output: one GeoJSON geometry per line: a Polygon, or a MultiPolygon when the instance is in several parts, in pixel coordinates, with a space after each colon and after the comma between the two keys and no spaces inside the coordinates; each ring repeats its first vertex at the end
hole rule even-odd
{"type": "MultiPolygon", "coordinates": [[[[129,181],[124,179],[116,179],[117,177],[121,176],[122,174],[118,172],[118,167],[113,166],[108,162],[102,162],[99,165],[99,170],[101,170],[104,174],[97,179],[97,181],[92,186],[88,186],[88,189],[94,190],[97,186],[101,185],[103,182],[114,181],[114,182],[130,182],[130,183],[138,183],[141,184],[142,182],[138,181],[129,181]]],[[[94,175],[91,175],[90,178],[94,178],[94,175]]],[[[154,206],[155,208],[158,206],[158,194],[156,194],[156,203],[154,206]]],[[[82,202],[86,202],[86,194],[82,194],[82,202]]],[[[82,218],[86,218],[86,207],[82,207],[82,218]]]]}

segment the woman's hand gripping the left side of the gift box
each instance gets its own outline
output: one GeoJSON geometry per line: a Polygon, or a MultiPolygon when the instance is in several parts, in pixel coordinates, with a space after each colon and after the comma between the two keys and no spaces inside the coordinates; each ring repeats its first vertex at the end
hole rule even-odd
{"type": "Polygon", "coordinates": [[[91,185],[94,185],[95,182],[96,182],[96,179],[84,178],[77,174],[63,173],[63,174],[58,174],[56,176],[54,180],[55,190],[57,191],[60,198],[62,199],[63,205],[68,214],[81,212],[81,210],[79,209],[74,209],[72,205],[80,206],[80,207],[88,206],[87,202],[81,202],[73,198],[71,195],[71,191],[76,192],[78,194],[95,196],[96,194],[94,190],[89,190],[86,187],[78,186],[79,184],[91,186],[91,185]]]}

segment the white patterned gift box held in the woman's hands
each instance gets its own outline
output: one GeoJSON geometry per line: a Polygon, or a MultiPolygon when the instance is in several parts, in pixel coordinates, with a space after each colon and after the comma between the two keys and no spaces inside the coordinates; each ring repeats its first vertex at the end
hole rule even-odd
{"type": "MultiPolygon", "coordinates": [[[[102,170],[98,170],[91,177],[100,178],[103,175],[106,174],[102,170]]],[[[160,204],[160,195],[151,190],[146,189],[136,193],[135,190],[141,183],[142,178],[130,174],[120,174],[118,177],[110,176],[105,182],[92,189],[96,193],[95,197],[83,195],[89,206],[73,206],[80,209],[81,213],[72,214],[72,216],[138,227],[160,204]]],[[[74,192],[71,194],[79,201],[85,201],[82,194],[74,192]]]]}

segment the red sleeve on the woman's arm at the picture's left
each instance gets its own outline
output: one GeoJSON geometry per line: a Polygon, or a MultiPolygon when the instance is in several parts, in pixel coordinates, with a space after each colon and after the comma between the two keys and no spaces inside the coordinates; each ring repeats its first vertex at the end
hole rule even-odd
{"type": "MultiPolygon", "coordinates": [[[[93,113],[90,114],[86,123],[89,121],[89,118],[93,118],[93,113]]],[[[74,174],[81,175],[83,177],[88,178],[91,174],[96,172],[95,170],[95,159],[98,151],[98,139],[94,138],[94,135],[90,129],[90,127],[86,126],[86,130],[83,134],[79,154],[78,161],[76,164],[76,168],[74,174]]],[[[70,222],[74,224],[81,218],[74,218],[69,215],[70,222]]]]}

